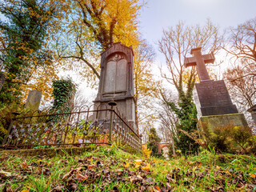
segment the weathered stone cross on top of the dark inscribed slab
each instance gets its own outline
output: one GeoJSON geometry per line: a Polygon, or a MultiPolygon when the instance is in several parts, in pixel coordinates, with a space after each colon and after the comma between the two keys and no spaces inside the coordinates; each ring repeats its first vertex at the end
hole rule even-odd
{"type": "Polygon", "coordinates": [[[206,63],[214,63],[214,54],[201,54],[201,47],[191,50],[191,54],[194,57],[185,58],[184,65],[187,66],[197,66],[198,76],[200,82],[210,80],[209,74],[206,70],[206,63]]]}

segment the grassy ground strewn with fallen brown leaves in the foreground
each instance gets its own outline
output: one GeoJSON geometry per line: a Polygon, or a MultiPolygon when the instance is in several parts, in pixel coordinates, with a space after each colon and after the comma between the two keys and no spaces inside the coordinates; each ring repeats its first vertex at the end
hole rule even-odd
{"type": "Polygon", "coordinates": [[[79,155],[0,155],[0,191],[255,191],[256,157],[180,155],[166,161],[98,146],[79,155]]]}

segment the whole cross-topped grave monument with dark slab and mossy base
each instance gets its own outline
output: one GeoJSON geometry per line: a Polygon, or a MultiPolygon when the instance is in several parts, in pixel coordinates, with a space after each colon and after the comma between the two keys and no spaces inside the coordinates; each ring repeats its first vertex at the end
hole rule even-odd
{"type": "Polygon", "coordinates": [[[201,54],[201,48],[191,50],[193,57],[185,58],[184,65],[197,66],[200,83],[195,84],[194,101],[198,110],[199,122],[208,122],[214,126],[247,126],[243,114],[233,105],[225,82],[211,80],[206,70],[206,63],[213,63],[214,54],[201,54]]]}

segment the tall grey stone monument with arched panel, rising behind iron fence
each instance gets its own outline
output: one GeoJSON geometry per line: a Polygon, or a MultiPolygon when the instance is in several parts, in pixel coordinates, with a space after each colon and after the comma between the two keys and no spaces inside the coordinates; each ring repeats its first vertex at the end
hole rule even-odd
{"type": "MultiPolygon", "coordinates": [[[[94,100],[97,106],[110,101],[117,102],[118,110],[135,126],[134,105],[134,52],[132,47],[114,43],[101,53],[101,74],[98,94],[94,100]]],[[[104,107],[103,105],[101,105],[104,107]]],[[[104,119],[98,114],[98,120],[104,119]]]]}

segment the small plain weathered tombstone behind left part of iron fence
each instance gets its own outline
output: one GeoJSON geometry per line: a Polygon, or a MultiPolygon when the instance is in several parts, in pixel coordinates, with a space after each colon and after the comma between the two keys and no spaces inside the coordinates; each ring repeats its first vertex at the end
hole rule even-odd
{"type": "Polygon", "coordinates": [[[29,96],[26,99],[26,108],[30,108],[31,111],[39,109],[39,105],[42,98],[42,92],[39,90],[30,90],[29,96]]]}

